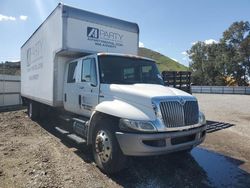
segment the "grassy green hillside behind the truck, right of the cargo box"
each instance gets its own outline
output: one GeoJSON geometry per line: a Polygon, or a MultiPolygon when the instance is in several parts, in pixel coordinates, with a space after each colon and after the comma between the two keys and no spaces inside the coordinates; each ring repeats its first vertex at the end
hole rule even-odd
{"type": "Polygon", "coordinates": [[[140,56],[147,57],[154,59],[156,61],[156,64],[159,68],[159,70],[162,71],[186,71],[188,70],[188,67],[178,63],[177,61],[174,61],[173,59],[164,56],[161,53],[155,52],[153,50],[147,49],[147,48],[139,48],[140,56]]]}

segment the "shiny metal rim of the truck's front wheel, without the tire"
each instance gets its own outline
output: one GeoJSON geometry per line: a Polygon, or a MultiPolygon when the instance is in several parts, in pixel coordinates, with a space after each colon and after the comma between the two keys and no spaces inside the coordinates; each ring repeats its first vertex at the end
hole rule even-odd
{"type": "Polygon", "coordinates": [[[95,139],[95,151],[102,162],[107,162],[110,159],[112,146],[107,132],[103,130],[98,131],[95,139]]]}

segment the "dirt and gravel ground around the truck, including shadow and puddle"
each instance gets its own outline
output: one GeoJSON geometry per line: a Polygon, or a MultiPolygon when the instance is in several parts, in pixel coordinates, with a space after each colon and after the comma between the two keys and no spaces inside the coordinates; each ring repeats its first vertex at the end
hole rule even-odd
{"type": "Polygon", "coordinates": [[[134,157],[113,176],[100,172],[90,148],[57,134],[57,121],[33,122],[26,110],[2,112],[0,188],[250,187],[250,96],[195,96],[208,120],[233,126],[207,134],[191,154],[134,157]]]}

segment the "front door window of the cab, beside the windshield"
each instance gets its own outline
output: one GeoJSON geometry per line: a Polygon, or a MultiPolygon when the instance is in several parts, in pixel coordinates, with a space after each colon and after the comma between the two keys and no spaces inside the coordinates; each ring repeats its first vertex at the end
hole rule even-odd
{"type": "Polygon", "coordinates": [[[97,85],[97,74],[95,59],[89,58],[82,61],[82,82],[90,82],[94,86],[97,85]]]}

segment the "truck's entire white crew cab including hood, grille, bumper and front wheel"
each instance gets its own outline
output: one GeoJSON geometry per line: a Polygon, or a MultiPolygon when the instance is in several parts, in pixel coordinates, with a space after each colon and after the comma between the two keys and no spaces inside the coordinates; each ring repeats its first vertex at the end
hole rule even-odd
{"type": "Polygon", "coordinates": [[[190,151],[204,140],[196,98],[164,86],[154,60],[98,53],[66,66],[64,109],[85,118],[74,130],[105,172],[121,169],[126,156],[190,151]]]}

